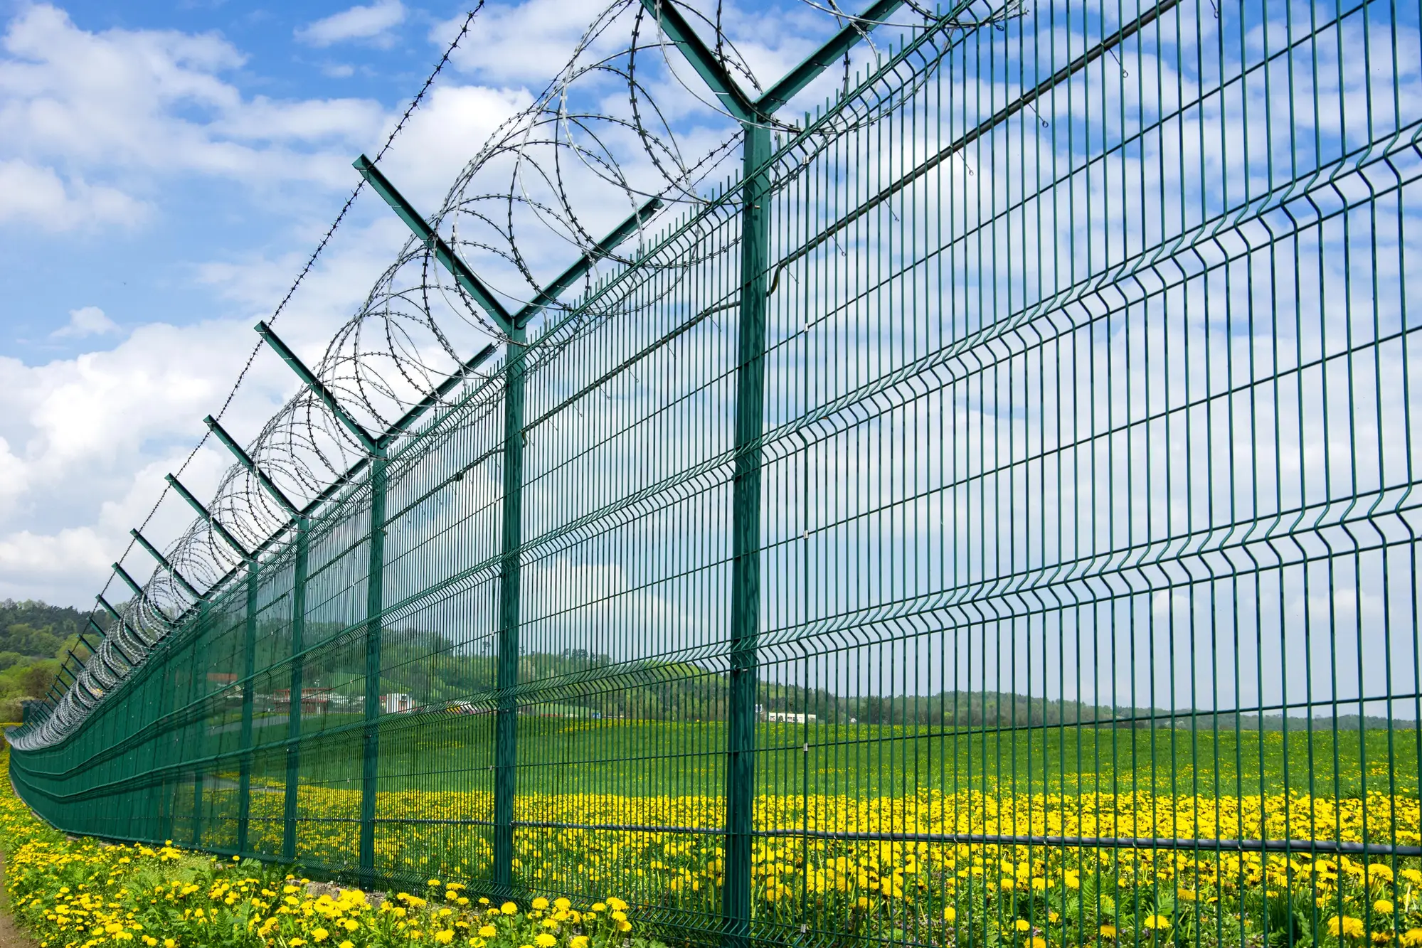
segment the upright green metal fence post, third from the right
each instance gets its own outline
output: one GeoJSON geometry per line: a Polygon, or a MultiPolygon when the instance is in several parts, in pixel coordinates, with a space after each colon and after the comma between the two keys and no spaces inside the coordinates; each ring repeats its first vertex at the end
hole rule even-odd
{"type": "Polygon", "coordinates": [[[370,569],[365,580],[365,728],[360,785],[360,877],[375,878],[375,792],[380,777],[380,635],[385,607],[385,452],[370,460],[370,569]]]}

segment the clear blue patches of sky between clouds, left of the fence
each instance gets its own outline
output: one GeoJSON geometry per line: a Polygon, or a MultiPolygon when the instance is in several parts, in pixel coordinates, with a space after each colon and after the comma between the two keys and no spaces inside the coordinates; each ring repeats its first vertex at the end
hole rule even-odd
{"type": "MultiPolygon", "coordinates": [[[[154,31],[169,33],[172,40],[208,38],[215,48],[196,71],[249,102],[262,98],[286,104],[354,99],[346,122],[347,129],[354,126],[354,135],[333,134],[327,141],[346,138],[356,144],[363,131],[375,131],[360,128],[361,114],[375,115],[377,105],[394,109],[418,88],[437,58],[431,34],[444,20],[456,16],[459,6],[375,4],[363,7],[363,16],[328,20],[344,9],[330,3],[73,3],[53,9],[7,4],[11,40],[17,38],[17,28],[28,23],[36,33],[53,31],[47,38],[54,44],[31,45],[28,51],[7,44],[7,60],[9,64],[16,60],[33,64],[36,55],[58,55],[65,40],[78,38],[64,36],[71,30],[107,34],[117,43],[154,31]],[[51,18],[67,18],[68,28],[44,23],[51,18]],[[319,26],[313,28],[313,24],[319,26]]],[[[172,50],[173,44],[168,45],[172,50]]],[[[189,122],[203,122],[212,114],[210,107],[192,101],[173,102],[169,111],[173,118],[189,122]]],[[[6,151],[11,149],[30,151],[23,142],[11,142],[6,151]]],[[[102,145],[100,149],[102,152],[102,145]]],[[[65,165],[70,173],[80,173],[75,155],[36,151],[54,161],[61,173],[65,165]]],[[[92,156],[94,165],[104,161],[102,153],[92,156]]],[[[155,317],[183,324],[220,316],[222,307],[213,306],[208,287],[195,281],[195,267],[243,260],[260,249],[293,246],[293,236],[297,236],[293,227],[309,223],[309,217],[334,213],[340,202],[337,185],[341,183],[263,188],[262,183],[253,186],[203,173],[144,179],[145,175],[125,173],[122,165],[108,173],[87,168],[82,173],[85,182],[95,186],[107,183],[105,179],[127,179],[129,188],[119,186],[142,208],[132,209],[137,220],[127,217],[124,209],[112,210],[107,220],[100,212],[98,223],[118,225],[117,233],[108,226],[65,226],[64,213],[53,208],[55,217],[48,222],[40,209],[23,217],[6,215],[6,226],[0,229],[0,252],[6,259],[0,269],[0,296],[9,331],[0,335],[0,354],[30,365],[92,347],[92,335],[53,335],[70,321],[71,310],[100,307],[119,330],[151,323],[155,317]],[[263,190],[267,193],[260,193],[263,190]]]]}

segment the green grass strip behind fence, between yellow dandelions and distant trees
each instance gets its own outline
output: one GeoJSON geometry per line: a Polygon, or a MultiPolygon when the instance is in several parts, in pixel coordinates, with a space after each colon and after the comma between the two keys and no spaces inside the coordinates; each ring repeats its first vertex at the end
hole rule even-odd
{"type": "MultiPolygon", "coordinates": [[[[415,723],[411,718],[408,723],[415,723]]],[[[428,719],[427,719],[428,722],[428,719]]],[[[334,722],[327,722],[334,723],[334,722]]],[[[383,790],[469,790],[492,779],[492,718],[408,729],[387,719],[383,790]]],[[[1293,728],[1293,725],[1291,725],[1293,728]]],[[[919,790],[1246,796],[1418,795],[1416,729],[1278,731],[1038,728],[943,733],[927,726],[762,723],[762,793],[902,796],[919,790]]],[[[722,792],[721,723],[519,719],[519,789],[624,796],[722,792]]],[[[319,782],[360,770],[358,752],[316,755],[319,782]]],[[[274,775],[273,775],[274,776],[274,775]]]]}

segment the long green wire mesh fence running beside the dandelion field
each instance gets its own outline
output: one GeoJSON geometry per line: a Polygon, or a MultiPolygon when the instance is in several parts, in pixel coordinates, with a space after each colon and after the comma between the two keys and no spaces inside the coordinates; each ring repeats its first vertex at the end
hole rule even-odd
{"type": "Polygon", "coordinates": [[[1422,944],[1418,6],[960,7],[803,125],[654,9],[744,175],[16,732],[30,806],[693,941],[1422,944]]]}

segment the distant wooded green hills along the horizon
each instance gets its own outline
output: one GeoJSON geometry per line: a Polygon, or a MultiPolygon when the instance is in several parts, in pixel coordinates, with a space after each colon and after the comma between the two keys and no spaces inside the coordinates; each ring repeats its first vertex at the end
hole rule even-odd
{"type": "MultiPolygon", "coordinates": [[[[54,682],[63,655],[74,650],[87,658],[78,634],[90,613],[37,601],[0,601],[0,718],[17,721],[20,702],[44,695],[54,682]]],[[[107,615],[94,614],[101,627],[107,615]]],[[[206,635],[202,657],[209,675],[235,675],[243,667],[246,638],[240,615],[216,618],[206,635]]],[[[338,637],[346,627],[336,623],[307,623],[306,642],[314,645],[338,637]]],[[[92,638],[92,635],[90,635],[92,638]]],[[[439,632],[385,630],[381,664],[385,674],[381,692],[402,692],[417,706],[449,702],[479,702],[493,689],[498,661],[485,635],[455,641],[439,632]]],[[[257,628],[256,667],[279,665],[290,654],[290,630],[283,621],[263,621],[257,628]]],[[[306,686],[348,692],[351,701],[364,695],[365,648],[360,637],[338,647],[317,648],[304,662],[306,686]]],[[[528,713],[586,715],[602,719],[638,721],[724,721],[728,678],[717,668],[695,662],[616,662],[610,655],[567,648],[533,652],[519,658],[519,681],[538,682],[536,701],[528,713]]],[[[256,684],[257,692],[287,688],[282,672],[256,684]]],[[[1105,706],[1078,701],[1057,701],[1001,691],[943,691],[933,695],[839,695],[826,688],[808,688],[762,679],[757,704],[761,715],[813,715],[825,725],[903,725],[930,728],[1199,728],[1209,731],[1283,731],[1278,715],[1220,713],[1190,715],[1132,706],[1105,706]]],[[[1315,712],[1313,729],[1357,731],[1357,713],[1341,713],[1334,722],[1315,712]]],[[[1369,729],[1388,726],[1386,718],[1367,716],[1369,729]]],[[[1288,729],[1301,732],[1303,718],[1288,719],[1288,729]]],[[[1415,728],[1415,722],[1394,719],[1394,728],[1415,728]]]]}

